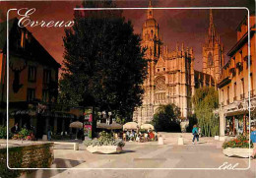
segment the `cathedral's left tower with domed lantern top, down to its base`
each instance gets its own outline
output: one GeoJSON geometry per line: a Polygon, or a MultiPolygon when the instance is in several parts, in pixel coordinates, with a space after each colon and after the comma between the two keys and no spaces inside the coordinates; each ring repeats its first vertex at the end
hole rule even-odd
{"type": "Polygon", "coordinates": [[[134,112],[134,117],[142,123],[151,121],[154,114],[154,80],[155,67],[160,58],[160,28],[154,19],[152,1],[147,9],[147,20],[142,28],[141,46],[146,48],[145,58],[148,60],[148,76],[144,81],[143,104],[134,112]]]}

